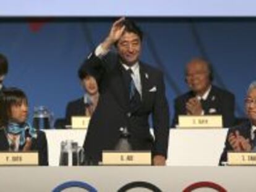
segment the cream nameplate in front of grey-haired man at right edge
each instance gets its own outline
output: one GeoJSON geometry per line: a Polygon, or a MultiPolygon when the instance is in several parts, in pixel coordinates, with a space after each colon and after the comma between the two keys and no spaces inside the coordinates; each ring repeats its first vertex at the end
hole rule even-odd
{"type": "Polygon", "coordinates": [[[256,165],[256,152],[228,152],[228,165],[256,165]]]}

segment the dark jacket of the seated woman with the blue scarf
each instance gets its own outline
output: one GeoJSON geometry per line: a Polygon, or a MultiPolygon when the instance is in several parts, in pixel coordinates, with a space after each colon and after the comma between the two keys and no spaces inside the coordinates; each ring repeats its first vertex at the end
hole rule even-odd
{"type": "MultiPolygon", "coordinates": [[[[0,130],[0,151],[8,150],[9,142],[6,137],[6,132],[2,129],[0,130]]],[[[37,131],[37,138],[32,139],[31,151],[38,151],[39,165],[48,165],[48,144],[43,131],[37,131]]]]}

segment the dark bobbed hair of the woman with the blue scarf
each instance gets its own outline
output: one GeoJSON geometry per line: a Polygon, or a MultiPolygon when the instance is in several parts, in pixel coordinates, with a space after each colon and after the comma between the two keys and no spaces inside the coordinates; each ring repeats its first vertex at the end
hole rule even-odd
{"type": "Polygon", "coordinates": [[[28,102],[26,94],[19,88],[6,88],[0,95],[0,127],[5,127],[11,119],[11,107],[28,102]]]}

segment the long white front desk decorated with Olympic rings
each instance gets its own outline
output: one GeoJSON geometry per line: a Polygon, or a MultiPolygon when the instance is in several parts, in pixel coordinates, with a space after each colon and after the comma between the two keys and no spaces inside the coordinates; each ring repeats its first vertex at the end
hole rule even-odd
{"type": "Polygon", "coordinates": [[[256,188],[256,167],[0,167],[0,171],[1,191],[8,192],[52,191],[70,181],[87,183],[99,192],[117,191],[138,181],[151,183],[164,192],[180,192],[196,182],[213,182],[232,192],[254,192],[256,188]]]}

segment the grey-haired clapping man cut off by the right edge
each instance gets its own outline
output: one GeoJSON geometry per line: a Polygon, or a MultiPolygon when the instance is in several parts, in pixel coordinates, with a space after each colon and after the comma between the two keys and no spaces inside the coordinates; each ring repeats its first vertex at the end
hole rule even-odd
{"type": "Polygon", "coordinates": [[[230,128],[226,139],[226,146],[221,156],[221,162],[227,161],[227,152],[255,152],[256,146],[256,81],[248,88],[245,98],[245,113],[247,122],[230,128]]]}

